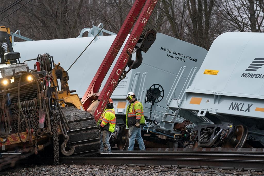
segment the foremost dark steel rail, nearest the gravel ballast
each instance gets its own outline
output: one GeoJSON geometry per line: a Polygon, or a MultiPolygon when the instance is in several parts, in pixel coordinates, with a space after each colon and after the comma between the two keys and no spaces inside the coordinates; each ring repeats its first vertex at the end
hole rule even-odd
{"type": "Polygon", "coordinates": [[[242,170],[263,170],[264,160],[248,159],[209,159],[209,158],[150,158],[150,157],[84,157],[60,158],[63,164],[88,164],[88,165],[164,165],[191,168],[222,168],[242,170]]]}

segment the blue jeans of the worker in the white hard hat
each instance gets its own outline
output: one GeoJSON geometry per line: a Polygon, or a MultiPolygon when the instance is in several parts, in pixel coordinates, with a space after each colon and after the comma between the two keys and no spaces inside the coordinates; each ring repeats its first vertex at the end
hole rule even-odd
{"type": "Polygon", "coordinates": [[[129,127],[129,146],[128,150],[134,150],[135,139],[138,142],[140,150],[146,150],[145,145],[141,136],[141,127],[137,128],[135,126],[129,127]]]}

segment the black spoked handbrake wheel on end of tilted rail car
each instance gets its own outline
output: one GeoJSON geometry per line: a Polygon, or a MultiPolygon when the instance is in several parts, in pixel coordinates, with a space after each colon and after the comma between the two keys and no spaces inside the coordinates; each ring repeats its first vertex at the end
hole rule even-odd
{"type": "Polygon", "coordinates": [[[163,97],[164,89],[162,88],[162,86],[159,84],[153,84],[147,91],[145,103],[152,102],[152,105],[154,105],[154,103],[160,102],[163,97]]]}

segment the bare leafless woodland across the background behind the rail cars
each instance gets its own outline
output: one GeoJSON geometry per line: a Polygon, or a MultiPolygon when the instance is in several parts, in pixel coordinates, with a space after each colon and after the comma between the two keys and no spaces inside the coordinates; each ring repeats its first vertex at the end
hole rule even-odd
{"type": "MultiPolygon", "coordinates": [[[[14,0],[13,0],[14,1],[14,0]]],[[[0,1],[4,9],[13,1],[0,1]]],[[[2,13],[12,13],[25,2],[2,13]]],[[[35,0],[1,21],[34,40],[77,37],[86,27],[103,23],[117,33],[134,0],[35,0]]],[[[147,27],[209,49],[228,31],[264,32],[263,0],[160,0],[147,27]]]]}

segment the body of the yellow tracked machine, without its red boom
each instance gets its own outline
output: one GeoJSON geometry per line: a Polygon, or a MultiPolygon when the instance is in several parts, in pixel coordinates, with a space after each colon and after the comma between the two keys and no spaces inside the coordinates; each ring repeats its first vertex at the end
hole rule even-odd
{"type": "Polygon", "coordinates": [[[49,54],[36,56],[30,70],[13,51],[9,28],[0,28],[0,152],[18,150],[37,154],[53,143],[59,153],[87,156],[99,153],[98,129],[93,116],[83,111],[71,94],[67,72],[49,54]],[[60,80],[60,83],[59,81],[60,80]],[[59,85],[60,84],[60,85],[59,85]],[[60,150],[59,150],[60,148],[60,150]]]}

